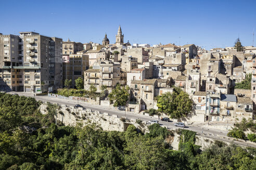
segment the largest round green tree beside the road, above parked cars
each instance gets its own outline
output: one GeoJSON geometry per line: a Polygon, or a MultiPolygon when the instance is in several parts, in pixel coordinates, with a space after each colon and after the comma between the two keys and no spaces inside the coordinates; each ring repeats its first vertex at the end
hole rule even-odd
{"type": "Polygon", "coordinates": [[[175,119],[187,116],[192,111],[192,104],[189,95],[180,88],[174,88],[173,93],[167,92],[157,98],[158,110],[175,119]]]}

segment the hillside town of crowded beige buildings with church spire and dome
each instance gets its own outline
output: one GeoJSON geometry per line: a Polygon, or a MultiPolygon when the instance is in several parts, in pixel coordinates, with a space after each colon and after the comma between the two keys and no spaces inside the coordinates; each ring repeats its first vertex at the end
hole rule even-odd
{"type": "MultiPolygon", "coordinates": [[[[105,34],[101,44],[78,43],[35,32],[0,34],[0,89],[26,93],[51,93],[75,88],[107,94],[117,84],[129,86],[126,111],[158,109],[156,97],[178,87],[193,101],[190,122],[232,122],[253,119],[256,102],[256,47],[210,51],[194,44],[133,44],[124,42],[121,26],[116,43],[105,34]],[[247,85],[243,85],[246,84],[247,85]],[[248,85],[249,84],[249,85],[248,85]]],[[[97,104],[111,105],[108,95],[97,104]]]]}

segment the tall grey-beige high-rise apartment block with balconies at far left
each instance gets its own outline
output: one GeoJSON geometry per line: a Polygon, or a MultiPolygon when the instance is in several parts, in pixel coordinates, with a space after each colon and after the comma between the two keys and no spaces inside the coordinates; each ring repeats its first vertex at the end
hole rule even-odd
{"type": "Polygon", "coordinates": [[[62,86],[61,38],[35,32],[0,35],[0,61],[1,87],[42,93],[62,86]]]}

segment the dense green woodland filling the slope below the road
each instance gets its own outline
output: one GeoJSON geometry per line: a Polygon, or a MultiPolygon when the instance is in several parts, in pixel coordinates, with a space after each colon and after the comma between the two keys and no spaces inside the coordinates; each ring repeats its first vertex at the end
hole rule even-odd
{"type": "Polygon", "coordinates": [[[196,134],[181,130],[179,150],[172,150],[173,132],[149,126],[140,133],[106,132],[96,124],[82,127],[54,124],[57,105],[41,115],[33,98],[0,94],[0,169],[255,169],[256,150],[218,142],[200,151],[196,134]],[[4,112],[2,111],[4,110],[4,112]],[[8,116],[15,118],[7,119],[8,116]],[[27,131],[21,127],[35,127],[27,131]]]}

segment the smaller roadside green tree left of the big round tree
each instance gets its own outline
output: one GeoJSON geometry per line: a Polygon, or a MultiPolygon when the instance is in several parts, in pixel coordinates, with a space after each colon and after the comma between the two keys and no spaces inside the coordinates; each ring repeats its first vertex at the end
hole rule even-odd
{"type": "Polygon", "coordinates": [[[117,87],[108,95],[110,101],[114,102],[114,107],[126,105],[129,100],[129,91],[130,88],[128,86],[121,87],[120,84],[117,84],[117,87]]]}

